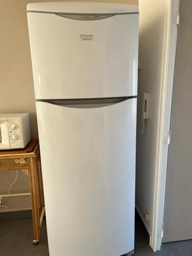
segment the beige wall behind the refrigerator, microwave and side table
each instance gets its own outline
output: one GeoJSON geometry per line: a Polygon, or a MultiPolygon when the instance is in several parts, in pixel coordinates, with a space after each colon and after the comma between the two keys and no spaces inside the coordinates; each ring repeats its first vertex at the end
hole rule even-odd
{"type": "MultiPolygon", "coordinates": [[[[29,112],[32,138],[38,138],[26,12],[27,4],[32,2],[63,2],[63,0],[1,0],[0,112],[29,112]]],[[[138,5],[138,0],[89,0],[89,2],[138,5]]],[[[15,175],[15,172],[0,172],[0,194],[7,193],[15,175]]],[[[12,192],[23,193],[28,190],[28,177],[19,172],[18,181],[13,185],[12,192]]],[[[12,205],[11,210],[30,207],[30,197],[9,198],[8,202],[12,205]]],[[[5,209],[0,208],[0,211],[2,210],[5,209]]]]}

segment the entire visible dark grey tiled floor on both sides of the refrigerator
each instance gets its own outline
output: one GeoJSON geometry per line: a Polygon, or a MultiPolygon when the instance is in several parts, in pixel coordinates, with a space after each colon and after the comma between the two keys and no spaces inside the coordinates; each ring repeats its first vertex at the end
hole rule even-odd
{"type": "MultiPolygon", "coordinates": [[[[32,244],[32,229],[31,218],[0,220],[0,256],[49,256],[46,220],[42,225],[42,238],[38,245],[32,244]]],[[[162,250],[155,253],[148,246],[141,223],[136,221],[134,256],[153,255],[192,256],[192,240],[163,244],[162,250]]]]}

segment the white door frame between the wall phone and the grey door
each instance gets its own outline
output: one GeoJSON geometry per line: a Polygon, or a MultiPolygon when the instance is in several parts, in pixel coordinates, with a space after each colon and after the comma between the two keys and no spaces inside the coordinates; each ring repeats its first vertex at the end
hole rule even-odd
{"type": "Polygon", "coordinates": [[[168,132],[174,85],[174,72],[177,48],[177,14],[179,1],[168,1],[164,34],[164,56],[162,60],[160,110],[157,138],[157,159],[154,195],[154,216],[151,236],[151,247],[154,251],[161,249],[164,221],[165,185],[168,158],[168,132]]]}

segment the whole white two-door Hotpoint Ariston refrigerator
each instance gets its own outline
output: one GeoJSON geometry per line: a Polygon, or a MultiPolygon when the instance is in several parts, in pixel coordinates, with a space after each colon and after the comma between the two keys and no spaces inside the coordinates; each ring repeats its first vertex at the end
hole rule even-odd
{"type": "Polygon", "coordinates": [[[50,256],[134,250],[138,7],[28,4],[50,256]]]}

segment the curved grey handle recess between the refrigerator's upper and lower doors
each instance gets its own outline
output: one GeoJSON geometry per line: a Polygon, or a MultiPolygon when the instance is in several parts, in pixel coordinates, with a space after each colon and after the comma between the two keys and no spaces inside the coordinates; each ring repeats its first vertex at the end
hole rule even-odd
{"type": "Polygon", "coordinates": [[[113,105],[122,102],[127,99],[136,98],[131,97],[115,97],[115,98],[91,98],[91,99],[42,99],[36,100],[41,102],[47,102],[54,105],[66,106],[68,108],[78,109],[90,109],[90,108],[101,108],[102,106],[113,105]]]}

